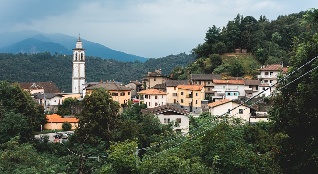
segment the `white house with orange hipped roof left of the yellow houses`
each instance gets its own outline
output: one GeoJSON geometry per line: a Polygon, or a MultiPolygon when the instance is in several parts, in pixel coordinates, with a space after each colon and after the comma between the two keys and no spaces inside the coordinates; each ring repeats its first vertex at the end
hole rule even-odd
{"type": "Polygon", "coordinates": [[[146,104],[147,108],[155,108],[167,104],[167,95],[169,93],[157,90],[148,89],[137,92],[139,98],[139,104],[146,104]]]}

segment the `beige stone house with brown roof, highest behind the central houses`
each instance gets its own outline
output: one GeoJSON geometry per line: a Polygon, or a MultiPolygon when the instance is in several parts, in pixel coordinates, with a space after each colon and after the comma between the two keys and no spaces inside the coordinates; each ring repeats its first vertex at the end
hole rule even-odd
{"type": "Polygon", "coordinates": [[[150,89],[156,84],[165,84],[168,80],[173,80],[173,78],[164,76],[161,74],[160,70],[148,71],[148,74],[143,75],[142,84],[145,85],[146,89],[150,89]]]}

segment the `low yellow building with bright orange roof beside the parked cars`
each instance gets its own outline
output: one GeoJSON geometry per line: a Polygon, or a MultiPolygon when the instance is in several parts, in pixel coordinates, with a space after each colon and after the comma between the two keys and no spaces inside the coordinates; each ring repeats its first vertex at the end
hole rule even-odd
{"type": "Polygon", "coordinates": [[[66,121],[71,123],[71,129],[74,130],[76,129],[77,122],[79,121],[77,118],[63,118],[57,114],[47,115],[46,118],[48,121],[46,121],[45,125],[43,126],[43,130],[63,129],[62,124],[66,121]]]}

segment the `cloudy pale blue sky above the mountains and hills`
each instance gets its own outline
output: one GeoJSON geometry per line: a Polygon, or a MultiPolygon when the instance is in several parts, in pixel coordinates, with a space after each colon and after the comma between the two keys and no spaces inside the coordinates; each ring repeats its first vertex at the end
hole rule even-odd
{"type": "MultiPolygon", "coordinates": [[[[1,0],[0,33],[62,33],[146,58],[176,55],[204,42],[212,25],[237,14],[275,20],[318,8],[317,0],[1,0]]],[[[85,48],[85,45],[83,45],[85,48]]]]}

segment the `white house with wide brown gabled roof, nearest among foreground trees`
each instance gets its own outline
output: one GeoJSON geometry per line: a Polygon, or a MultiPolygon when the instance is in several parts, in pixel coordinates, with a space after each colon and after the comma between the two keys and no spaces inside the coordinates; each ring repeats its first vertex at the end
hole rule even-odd
{"type": "Polygon", "coordinates": [[[187,111],[177,109],[175,107],[161,105],[155,108],[142,109],[143,113],[150,113],[159,117],[161,124],[167,124],[172,120],[179,122],[180,127],[174,128],[176,131],[187,132],[189,131],[189,113],[187,111]]]}

